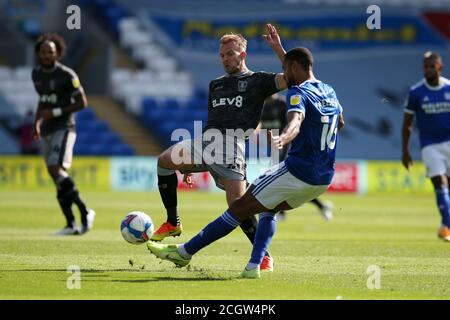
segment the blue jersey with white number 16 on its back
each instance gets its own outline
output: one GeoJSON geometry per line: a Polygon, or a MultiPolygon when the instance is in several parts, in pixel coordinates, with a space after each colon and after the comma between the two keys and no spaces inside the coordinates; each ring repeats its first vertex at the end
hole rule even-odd
{"type": "Polygon", "coordinates": [[[285,160],[289,172],[312,185],[330,184],[334,175],[339,114],[342,107],[334,89],[305,81],[289,89],[287,112],[303,112],[305,119],[292,140],[285,160]]]}

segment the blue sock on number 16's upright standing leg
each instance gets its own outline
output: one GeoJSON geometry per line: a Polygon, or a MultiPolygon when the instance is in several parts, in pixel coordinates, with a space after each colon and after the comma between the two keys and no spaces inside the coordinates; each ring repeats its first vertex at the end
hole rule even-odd
{"type": "Polygon", "coordinates": [[[275,214],[263,212],[259,215],[258,229],[256,229],[255,242],[253,242],[252,257],[250,263],[261,264],[270,241],[277,228],[275,214]]]}

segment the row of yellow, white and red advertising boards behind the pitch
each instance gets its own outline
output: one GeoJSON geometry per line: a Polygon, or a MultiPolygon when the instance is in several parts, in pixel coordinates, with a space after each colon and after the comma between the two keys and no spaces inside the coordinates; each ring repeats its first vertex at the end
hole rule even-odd
{"type": "MultiPolygon", "coordinates": [[[[249,161],[248,181],[253,181],[270,162],[249,161]]],[[[91,191],[157,191],[156,157],[81,157],[70,169],[81,190],[91,191]]],[[[221,192],[209,173],[195,173],[191,190],[221,192]]],[[[178,173],[180,190],[190,190],[178,173]]],[[[1,190],[54,190],[41,157],[0,157],[1,190]]],[[[328,192],[358,194],[431,194],[425,167],[415,162],[410,171],[400,161],[338,161],[328,192]]]]}

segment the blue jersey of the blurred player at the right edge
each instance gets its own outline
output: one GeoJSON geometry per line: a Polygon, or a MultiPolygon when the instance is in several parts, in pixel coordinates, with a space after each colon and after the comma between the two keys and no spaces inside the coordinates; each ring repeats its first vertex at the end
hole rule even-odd
{"type": "Polygon", "coordinates": [[[441,77],[431,87],[425,79],[411,87],[405,112],[414,114],[419,128],[420,146],[450,141],[450,81],[441,77]]]}

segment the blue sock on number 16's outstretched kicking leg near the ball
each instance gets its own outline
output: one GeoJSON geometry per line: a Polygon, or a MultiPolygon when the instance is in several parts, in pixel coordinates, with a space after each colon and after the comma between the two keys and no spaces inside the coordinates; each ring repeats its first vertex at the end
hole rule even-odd
{"type": "Polygon", "coordinates": [[[188,254],[195,254],[214,241],[225,237],[236,229],[239,221],[229,211],[225,211],[220,217],[208,224],[200,233],[184,244],[188,254]]]}

